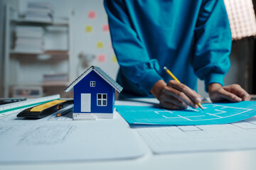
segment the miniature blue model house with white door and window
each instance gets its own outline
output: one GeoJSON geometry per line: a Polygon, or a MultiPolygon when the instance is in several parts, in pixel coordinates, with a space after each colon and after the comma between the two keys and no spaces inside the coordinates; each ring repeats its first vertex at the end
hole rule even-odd
{"type": "Polygon", "coordinates": [[[74,91],[74,120],[113,118],[114,91],[119,93],[122,86],[117,84],[99,67],[90,67],[70,84],[65,92],[74,91]],[[92,118],[92,119],[90,119],[92,118]]]}

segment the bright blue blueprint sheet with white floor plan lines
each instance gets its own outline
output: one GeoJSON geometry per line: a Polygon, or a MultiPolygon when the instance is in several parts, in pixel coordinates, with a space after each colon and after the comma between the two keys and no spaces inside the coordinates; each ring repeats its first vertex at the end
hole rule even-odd
{"type": "Polygon", "coordinates": [[[170,111],[154,106],[116,106],[129,124],[213,125],[234,123],[256,115],[256,101],[205,103],[201,108],[170,111]]]}

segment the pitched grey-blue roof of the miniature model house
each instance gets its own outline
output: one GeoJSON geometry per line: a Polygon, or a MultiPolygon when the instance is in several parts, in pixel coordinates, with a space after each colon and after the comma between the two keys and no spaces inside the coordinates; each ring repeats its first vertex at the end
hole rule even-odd
{"type": "Polygon", "coordinates": [[[116,81],[114,81],[114,79],[112,79],[102,69],[100,69],[100,67],[92,66],[89,69],[87,69],[84,73],[82,73],[80,77],[78,77],[78,79],[75,79],[75,81],[73,81],[73,83],[65,89],[65,92],[72,91],[75,84],[78,84],[78,82],[82,80],[84,77],[86,77],[87,74],[92,72],[92,70],[94,70],[100,77],[102,77],[102,79],[105,79],[105,81],[107,81],[107,83],[110,84],[110,86],[112,86],[116,91],[118,91],[118,93],[122,91],[122,86],[120,86],[116,81]]]}

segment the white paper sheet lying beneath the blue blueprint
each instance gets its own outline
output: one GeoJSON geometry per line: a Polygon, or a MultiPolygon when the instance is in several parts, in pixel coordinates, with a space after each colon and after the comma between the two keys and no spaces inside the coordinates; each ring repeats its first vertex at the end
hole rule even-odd
{"type": "MultiPolygon", "coordinates": [[[[119,105],[153,106],[156,100],[119,105]]],[[[132,125],[154,154],[256,149],[256,116],[222,125],[132,125]]]]}

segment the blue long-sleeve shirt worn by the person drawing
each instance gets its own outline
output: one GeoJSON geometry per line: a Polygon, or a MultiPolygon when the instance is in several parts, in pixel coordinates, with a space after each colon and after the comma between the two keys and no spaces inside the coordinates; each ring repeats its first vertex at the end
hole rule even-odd
{"type": "Polygon", "coordinates": [[[129,96],[151,96],[166,66],[181,83],[197,77],[223,85],[230,68],[231,33],[223,0],[105,0],[117,81],[129,96]]]}

